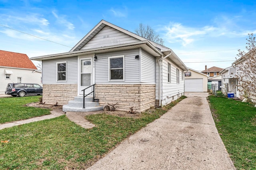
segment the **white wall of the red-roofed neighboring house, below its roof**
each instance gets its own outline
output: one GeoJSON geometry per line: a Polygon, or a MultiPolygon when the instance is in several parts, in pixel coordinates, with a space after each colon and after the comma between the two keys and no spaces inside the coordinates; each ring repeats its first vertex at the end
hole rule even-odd
{"type": "Polygon", "coordinates": [[[41,73],[40,72],[34,72],[32,69],[18,69],[18,68],[8,68],[12,70],[12,74],[10,79],[5,79],[6,74],[4,72],[6,68],[0,67],[0,94],[4,93],[6,86],[8,83],[16,83],[18,77],[22,77],[22,83],[36,83],[39,85],[42,85],[41,83],[41,73]]]}

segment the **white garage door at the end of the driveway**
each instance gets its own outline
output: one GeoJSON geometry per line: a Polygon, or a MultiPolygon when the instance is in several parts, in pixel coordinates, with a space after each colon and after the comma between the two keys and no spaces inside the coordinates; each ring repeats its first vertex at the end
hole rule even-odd
{"type": "Polygon", "coordinates": [[[203,92],[203,79],[185,79],[185,91],[203,92]]]}

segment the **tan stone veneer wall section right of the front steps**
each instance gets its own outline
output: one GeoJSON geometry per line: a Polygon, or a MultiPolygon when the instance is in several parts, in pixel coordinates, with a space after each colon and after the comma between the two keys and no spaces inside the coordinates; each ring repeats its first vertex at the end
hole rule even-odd
{"type": "Polygon", "coordinates": [[[117,110],[129,111],[133,107],[140,113],[156,106],[156,85],[96,84],[95,98],[100,105],[118,102],[117,110]]]}

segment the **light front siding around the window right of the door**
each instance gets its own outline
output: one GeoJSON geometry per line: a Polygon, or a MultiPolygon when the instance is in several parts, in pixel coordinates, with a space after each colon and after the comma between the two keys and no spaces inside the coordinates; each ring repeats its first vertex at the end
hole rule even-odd
{"type": "Polygon", "coordinates": [[[95,83],[115,83],[115,81],[108,81],[108,57],[118,55],[124,55],[125,77],[125,81],[119,81],[119,83],[140,82],[140,61],[135,59],[135,56],[139,55],[139,49],[133,49],[127,51],[115,51],[111,53],[97,54],[97,61],[95,61],[95,83]]]}

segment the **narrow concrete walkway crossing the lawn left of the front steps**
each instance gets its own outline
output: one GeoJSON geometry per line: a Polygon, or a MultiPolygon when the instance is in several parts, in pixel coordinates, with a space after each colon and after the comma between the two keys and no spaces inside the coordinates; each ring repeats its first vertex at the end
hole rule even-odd
{"type": "Polygon", "coordinates": [[[65,112],[62,111],[62,109],[58,109],[58,110],[56,109],[56,110],[52,110],[50,112],[51,112],[51,115],[45,115],[45,116],[40,116],[40,117],[33,117],[33,118],[30,118],[30,119],[26,119],[26,120],[14,121],[14,122],[10,122],[10,123],[0,124],[0,130],[4,129],[4,128],[9,128],[9,127],[14,127],[14,126],[18,126],[18,125],[23,125],[25,123],[42,121],[42,120],[45,120],[45,119],[52,119],[52,118],[59,117],[59,116],[65,114],[65,112]]]}

